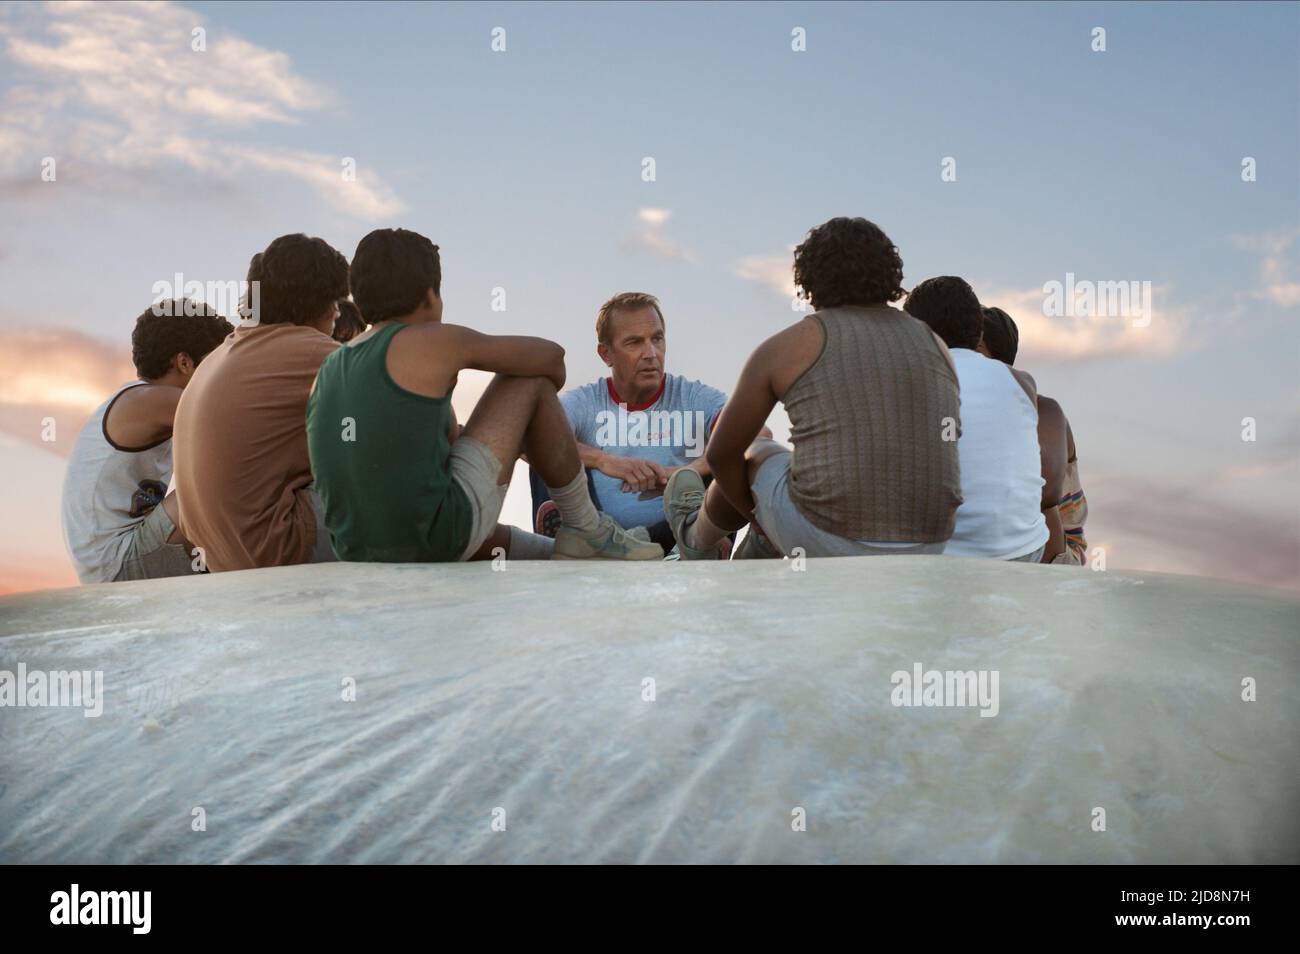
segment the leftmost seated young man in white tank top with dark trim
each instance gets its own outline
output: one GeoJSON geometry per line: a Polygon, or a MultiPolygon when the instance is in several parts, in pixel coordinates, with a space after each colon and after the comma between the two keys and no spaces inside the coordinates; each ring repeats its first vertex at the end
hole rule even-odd
{"type": "Polygon", "coordinates": [[[83,584],[194,572],[176,529],[172,425],[195,368],[231,331],[202,302],[162,302],[135,320],[138,381],[122,385],[82,428],[64,478],[64,539],[83,584]]]}

